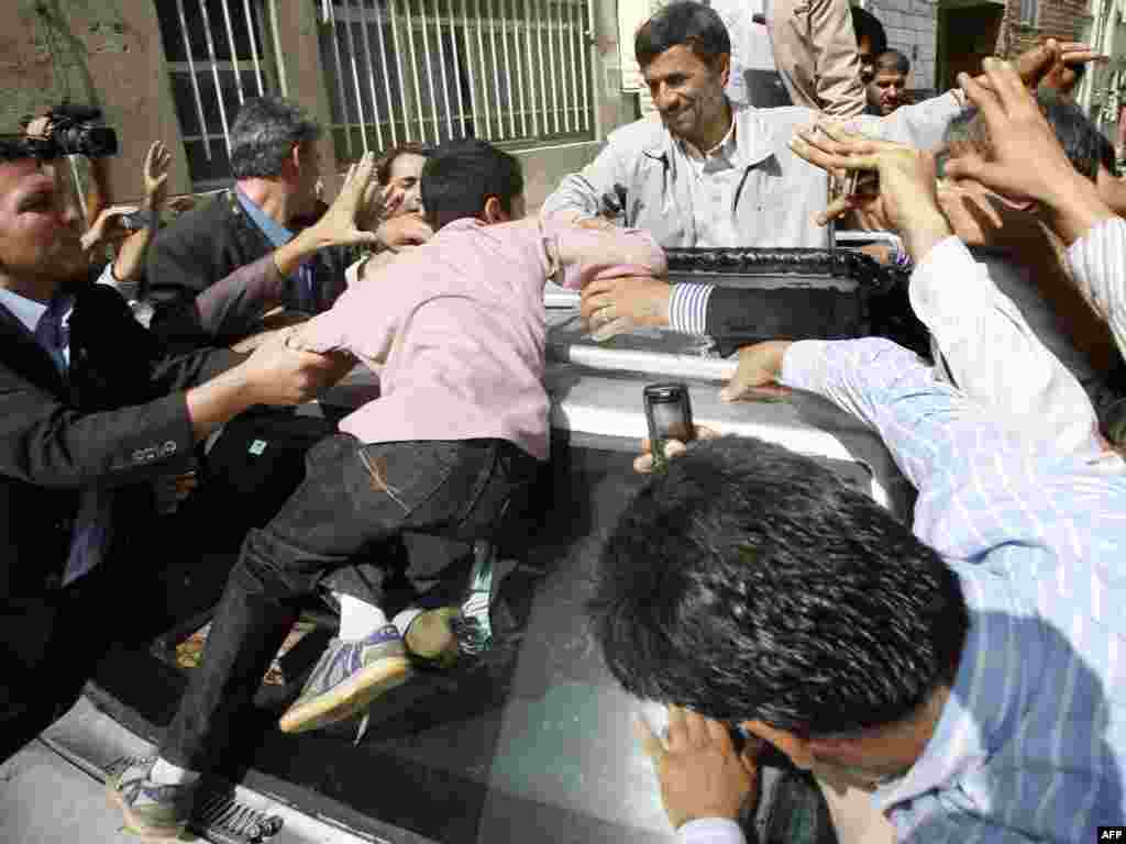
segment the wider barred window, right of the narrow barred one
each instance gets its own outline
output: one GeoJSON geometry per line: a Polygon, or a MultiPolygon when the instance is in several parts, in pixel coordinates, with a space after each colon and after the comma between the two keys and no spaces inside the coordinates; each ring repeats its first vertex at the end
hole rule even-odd
{"type": "Polygon", "coordinates": [[[314,0],[337,156],[589,138],[586,0],[314,0]]]}

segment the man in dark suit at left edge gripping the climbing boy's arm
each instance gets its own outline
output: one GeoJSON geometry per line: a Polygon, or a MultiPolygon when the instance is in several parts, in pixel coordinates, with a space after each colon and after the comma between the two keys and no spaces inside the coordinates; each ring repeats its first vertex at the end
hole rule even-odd
{"type": "MultiPolygon", "coordinates": [[[[91,282],[63,173],[0,144],[0,760],[111,643],[151,629],[145,590],[178,553],[157,536],[152,481],[243,410],[307,401],[350,366],[284,333],[250,356],[170,356],[91,282]]],[[[372,239],[352,222],[365,187],[341,192],[318,242],[372,239]]]]}

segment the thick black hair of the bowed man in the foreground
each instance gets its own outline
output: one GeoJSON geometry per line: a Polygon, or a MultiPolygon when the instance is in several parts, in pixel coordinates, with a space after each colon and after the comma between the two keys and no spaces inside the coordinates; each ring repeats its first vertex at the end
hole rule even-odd
{"type": "Polygon", "coordinates": [[[701,443],[629,504],[589,604],[631,693],[802,735],[906,718],[953,684],[968,627],[955,573],[807,457],[701,443]]]}

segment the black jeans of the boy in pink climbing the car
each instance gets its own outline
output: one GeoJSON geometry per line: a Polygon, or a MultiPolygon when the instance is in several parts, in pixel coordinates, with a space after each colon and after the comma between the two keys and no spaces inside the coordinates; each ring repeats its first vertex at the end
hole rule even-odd
{"type": "MultiPolygon", "coordinates": [[[[247,535],[161,756],[196,771],[216,764],[302,605],[354,555],[404,530],[488,536],[536,472],[503,440],[364,445],[337,434],[314,446],[302,485],[247,535]]],[[[367,585],[378,601],[379,583],[367,585]]]]}

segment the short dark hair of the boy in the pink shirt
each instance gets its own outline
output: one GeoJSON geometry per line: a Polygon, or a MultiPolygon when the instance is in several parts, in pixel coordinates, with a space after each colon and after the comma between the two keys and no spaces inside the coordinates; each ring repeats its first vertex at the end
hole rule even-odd
{"type": "Polygon", "coordinates": [[[497,197],[506,214],[524,192],[520,162],[492,144],[475,138],[438,146],[422,168],[422,208],[427,223],[438,231],[462,217],[477,217],[489,197],[497,197]]]}

